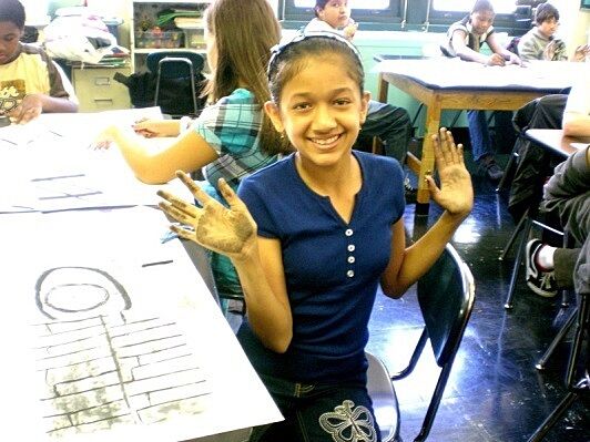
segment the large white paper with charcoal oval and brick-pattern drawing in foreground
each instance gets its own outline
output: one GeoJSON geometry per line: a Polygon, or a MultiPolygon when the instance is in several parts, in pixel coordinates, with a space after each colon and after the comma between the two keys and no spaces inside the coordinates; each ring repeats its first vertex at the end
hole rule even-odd
{"type": "Polygon", "coordinates": [[[0,439],[184,441],[281,420],[149,207],[0,216],[0,439]]]}

